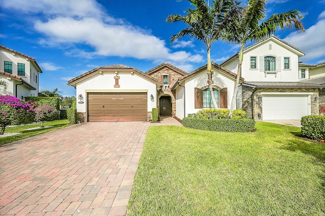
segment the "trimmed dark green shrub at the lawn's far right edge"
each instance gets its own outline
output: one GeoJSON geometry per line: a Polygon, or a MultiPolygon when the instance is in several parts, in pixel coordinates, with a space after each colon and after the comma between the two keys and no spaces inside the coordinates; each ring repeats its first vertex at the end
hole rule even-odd
{"type": "Polygon", "coordinates": [[[303,116],[301,133],[311,139],[325,139],[325,116],[303,116]]]}

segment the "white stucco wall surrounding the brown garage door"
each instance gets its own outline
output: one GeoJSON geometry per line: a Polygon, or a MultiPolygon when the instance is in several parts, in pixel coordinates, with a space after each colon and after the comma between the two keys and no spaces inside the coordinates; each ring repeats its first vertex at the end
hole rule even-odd
{"type": "Polygon", "coordinates": [[[156,84],[144,77],[130,72],[119,72],[118,76],[120,88],[114,88],[115,73],[103,71],[103,74],[94,74],[80,82],[76,86],[77,110],[85,113],[87,110],[87,92],[147,92],[147,112],[151,112],[156,107],[156,84]],[[78,103],[78,95],[82,94],[83,104],[78,103]],[[150,100],[150,95],[154,96],[154,101],[150,100]]]}

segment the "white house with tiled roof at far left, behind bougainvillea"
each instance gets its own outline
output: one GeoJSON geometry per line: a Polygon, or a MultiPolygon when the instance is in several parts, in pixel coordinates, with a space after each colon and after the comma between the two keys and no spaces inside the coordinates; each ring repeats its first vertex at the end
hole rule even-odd
{"type": "Polygon", "coordinates": [[[0,50],[0,80],[7,83],[7,89],[0,87],[0,94],[18,98],[37,96],[39,74],[43,71],[35,58],[2,45],[0,50]]]}

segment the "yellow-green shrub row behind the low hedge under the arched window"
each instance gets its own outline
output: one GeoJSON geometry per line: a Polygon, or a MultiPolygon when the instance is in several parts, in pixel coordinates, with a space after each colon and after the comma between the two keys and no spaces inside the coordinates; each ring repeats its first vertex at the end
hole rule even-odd
{"type": "MultiPolygon", "coordinates": [[[[188,114],[188,117],[199,119],[228,119],[230,110],[228,109],[206,109],[195,114],[188,114]]],[[[248,115],[243,110],[234,110],[232,119],[247,119],[248,115]]]]}

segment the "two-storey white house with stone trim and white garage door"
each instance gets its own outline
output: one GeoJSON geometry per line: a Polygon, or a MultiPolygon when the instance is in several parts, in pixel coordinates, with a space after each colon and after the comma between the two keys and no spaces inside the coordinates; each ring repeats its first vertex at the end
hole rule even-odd
{"type": "MultiPolygon", "coordinates": [[[[272,35],[244,49],[237,109],[255,120],[294,120],[318,115],[321,84],[304,82],[310,65],[305,53],[272,35]]],[[[237,73],[238,53],[221,63],[237,73]]]]}

